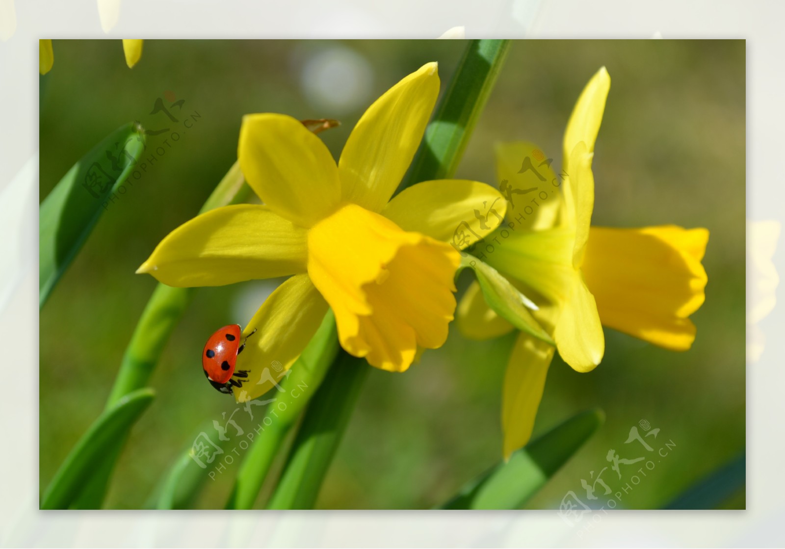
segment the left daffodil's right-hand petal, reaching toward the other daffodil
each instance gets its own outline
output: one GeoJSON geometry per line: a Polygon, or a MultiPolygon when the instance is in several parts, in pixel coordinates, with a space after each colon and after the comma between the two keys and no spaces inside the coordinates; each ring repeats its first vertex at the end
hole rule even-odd
{"type": "Polygon", "coordinates": [[[440,179],[407,188],[389,201],[382,215],[404,231],[422,232],[462,250],[491,234],[504,221],[505,209],[491,185],[440,179]]]}

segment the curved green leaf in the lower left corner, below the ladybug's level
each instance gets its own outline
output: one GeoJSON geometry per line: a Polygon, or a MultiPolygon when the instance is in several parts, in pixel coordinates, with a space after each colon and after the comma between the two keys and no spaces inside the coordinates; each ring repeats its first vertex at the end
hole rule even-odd
{"type": "Polygon", "coordinates": [[[154,395],[152,389],[134,391],[100,415],[60,465],[44,492],[42,509],[67,509],[74,502],[94,471],[104,463],[115,441],[125,436],[154,395]]]}

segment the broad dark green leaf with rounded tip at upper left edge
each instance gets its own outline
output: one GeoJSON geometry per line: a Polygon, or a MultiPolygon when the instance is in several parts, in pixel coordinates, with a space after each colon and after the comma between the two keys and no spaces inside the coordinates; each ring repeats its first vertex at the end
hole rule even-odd
{"type": "Polygon", "coordinates": [[[130,123],[96,145],[60,179],[39,208],[38,306],[42,307],[87,240],[108,200],[144,151],[144,131],[130,123]]]}

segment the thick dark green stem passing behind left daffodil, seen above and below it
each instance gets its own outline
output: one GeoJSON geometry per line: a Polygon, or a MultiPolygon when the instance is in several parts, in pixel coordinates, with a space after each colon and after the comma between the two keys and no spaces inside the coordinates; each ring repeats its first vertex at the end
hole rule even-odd
{"type": "MultiPolygon", "coordinates": [[[[420,181],[455,174],[508,49],[508,40],[469,42],[399,191],[420,181]]],[[[339,353],[305,411],[268,507],[303,509],[316,502],[369,368],[363,359],[339,353]]]]}

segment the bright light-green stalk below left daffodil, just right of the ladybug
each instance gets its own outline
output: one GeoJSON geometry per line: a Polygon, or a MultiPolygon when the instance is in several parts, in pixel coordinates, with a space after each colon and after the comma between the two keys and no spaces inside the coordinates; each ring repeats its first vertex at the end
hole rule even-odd
{"type": "Polygon", "coordinates": [[[235,480],[227,509],[251,509],[265,481],[272,460],[291,426],[297,422],[305,405],[327,374],[338,354],[338,331],[332,310],[324,316],[322,325],[290,368],[290,375],[280,383],[283,392],[268,393],[276,397],[265,415],[265,430],[254,439],[235,480]],[[285,406],[282,406],[284,404],[285,406]],[[281,409],[283,408],[283,410],[281,409]]]}

